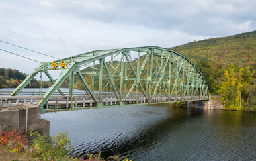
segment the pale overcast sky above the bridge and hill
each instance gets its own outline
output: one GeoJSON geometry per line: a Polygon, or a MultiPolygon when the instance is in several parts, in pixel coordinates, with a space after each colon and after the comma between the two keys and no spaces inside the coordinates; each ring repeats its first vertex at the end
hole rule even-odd
{"type": "MultiPolygon", "coordinates": [[[[161,46],[256,30],[255,0],[0,0],[0,40],[58,58],[91,50],[161,46]]],[[[0,42],[40,62],[54,60],[0,42]]],[[[0,68],[39,63],[0,50],[0,68]]]]}

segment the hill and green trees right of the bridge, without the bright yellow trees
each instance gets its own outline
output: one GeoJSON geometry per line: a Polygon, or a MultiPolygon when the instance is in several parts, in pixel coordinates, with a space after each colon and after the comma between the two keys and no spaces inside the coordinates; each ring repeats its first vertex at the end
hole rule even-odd
{"type": "Polygon", "coordinates": [[[217,94],[229,64],[256,69],[256,30],[234,36],[189,42],[171,48],[194,62],[204,75],[210,93],[217,94]]]}

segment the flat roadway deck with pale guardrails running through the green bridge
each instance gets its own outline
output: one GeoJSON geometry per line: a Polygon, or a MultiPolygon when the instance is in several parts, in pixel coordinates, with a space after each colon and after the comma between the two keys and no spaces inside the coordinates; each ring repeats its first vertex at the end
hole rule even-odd
{"type": "MultiPolygon", "coordinates": [[[[40,96],[15,96],[15,97],[0,97],[0,107],[15,107],[22,105],[22,103],[31,103],[36,105],[38,101],[42,97],[40,96]]],[[[154,103],[171,103],[177,101],[197,101],[197,100],[207,100],[207,98],[200,98],[195,96],[191,98],[191,96],[181,97],[181,96],[173,96],[168,98],[164,95],[156,95],[153,97],[151,103],[146,101],[146,97],[138,96],[138,102],[136,101],[136,96],[130,96],[124,102],[124,105],[132,105],[132,104],[154,104],[154,103]]],[[[102,97],[103,107],[111,107],[118,105],[118,99],[116,99],[113,95],[106,95],[102,97]]],[[[85,109],[93,109],[97,108],[95,101],[89,97],[85,96],[73,96],[73,98],[69,96],[52,96],[44,105],[44,109],[46,111],[52,111],[57,109],[73,109],[73,108],[85,108],[85,109]]]]}

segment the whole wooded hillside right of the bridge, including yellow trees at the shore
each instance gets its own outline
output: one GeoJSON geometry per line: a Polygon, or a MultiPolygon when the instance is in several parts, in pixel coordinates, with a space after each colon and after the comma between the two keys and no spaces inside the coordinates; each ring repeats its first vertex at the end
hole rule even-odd
{"type": "Polygon", "coordinates": [[[189,58],[227,109],[256,109],[256,30],[171,48],[189,58]]]}

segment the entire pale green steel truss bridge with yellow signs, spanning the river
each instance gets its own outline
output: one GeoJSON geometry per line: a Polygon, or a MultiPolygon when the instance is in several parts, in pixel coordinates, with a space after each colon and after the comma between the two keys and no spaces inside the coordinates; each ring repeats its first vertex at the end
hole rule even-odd
{"type": "Polygon", "coordinates": [[[91,100],[86,104],[83,98],[81,108],[209,99],[208,86],[198,68],[182,54],[157,46],[95,50],[54,62],[43,62],[10,96],[15,97],[38,73],[40,95],[42,73],[52,82],[52,87],[36,103],[42,113],[48,110],[48,101],[55,91],[66,98],[66,103],[64,106],[58,104],[54,109],[77,107],[73,92],[77,85],[84,87],[85,98],[91,100]],[[60,70],[58,79],[52,78],[50,70],[60,70]],[[69,82],[68,96],[60,89],[64,82],[69,82]]]}

